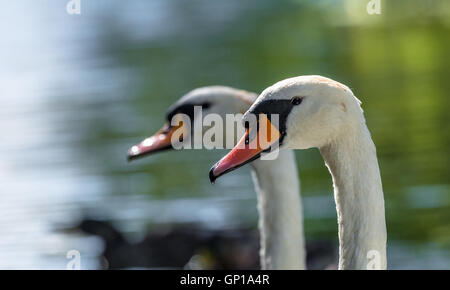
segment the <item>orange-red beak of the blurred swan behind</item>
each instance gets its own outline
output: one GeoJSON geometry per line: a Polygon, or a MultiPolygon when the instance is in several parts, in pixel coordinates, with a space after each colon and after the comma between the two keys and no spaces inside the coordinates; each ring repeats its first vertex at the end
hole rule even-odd
{"type": "MultiPolygon", "coordinates": [[[[172,135],[180,126],[171,126],[169,124],[164,125],[155,135],[144,139],[141,143],[136,144],[128,150],[128,161],[145,156],[147,154],[160,152],[163,150],[173,149],[172,147],[172,135]]],[[[180,139],[182,135],[180,136],[180,139]]]]}

